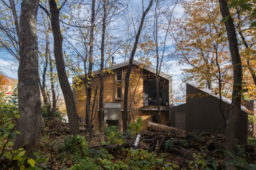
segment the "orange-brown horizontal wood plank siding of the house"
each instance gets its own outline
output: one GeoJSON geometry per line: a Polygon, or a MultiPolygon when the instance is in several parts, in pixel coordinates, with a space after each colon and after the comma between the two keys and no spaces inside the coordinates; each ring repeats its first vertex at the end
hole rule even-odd
{"type": "MultiPolygon", "coordinates": [[[[137,66],[133,66],[133,67],[137,67],[137,66]]],[[[137,67],[138,68],[138,67],[137,67]]],[[[121,130],[123,127],[123,122],[122,122],[122,110],[124,110],[124,78],[125,78],[125,73],[127,71],[127,66],[123,67],[123,93],[122,93],[122,100],[115,99],[115,70],[113,70],[114,74],[108,73],[106,74],[106,76],[104,77],[104,101],[103,103],[105,104],[106,102],[108,103],[121,103],[121,130]]],[[[134,69],[133,69],[134,71],[134,69]]],[[[141,69],[136,69],[136,74],[138,74],[140,76],[141,74],[141,69]]],[[[138,77],[139,77],[138,76],[138,77]]],[[[138,79],[138,78],[137,78],[138,79]]],[[[99,81],[99,79],[97,80],[99,81]]],[[[134,81],[131,81],[132,83],[136,84],[134,81]]],[[[95,83],[95,81],[94,81],[95,83]]],[[[97,82],[98,83],[98,82],[97,82]]],[[[85,97],[85,90],[84,90],[84,83],[81,82],[79,83],[79,85],[77,85],[77,87],[82,87],[83,88],[80,90],[76,90],[76,103],[77,103],[77,115],[79,117],[82,117],[82,120],[84,120],[86,118],[86,97],[85,97]]],[[[134,92],[135,89],[135,85],[133,85],[131,87],[131,96],[134,92]]],[[[130,92],[129,92],[129,96],[128,96],[128,108],[130,105],[130,92]]],[[[93,97],[94,97],[94,90],[92,92],[92,99],[91,99],[91,110],[92,110],[92,104],[93,104],[93,97]]],[[[140,81],[138,83],[138,87],[136,89],[136,93],[134,95],[134,102],[132,102],[132,113],[134,115],[134,120],[136,120],[139,117],[143,118],[143,127],[142,129],[147,129],[147,121],[152,121],[151,120],[151,115],[157,115],[157,110],[156,111],[144,111],[141,110],[141,108],[143,107],[143,77],[140,78],[140,81]]],[[[96,103],[97,104],[97,112],[95,115],[95,118],[93,120],[93,125],[95,126],[99,126],[99,89],[98,89],[98,101],[95,102],[95,107],[96,107],[96,103]]],[[[153,108],[157,108],[157,106],[151,106],[153,108]]],[[[168,106],[161,106],[161,108],[168,108],[168,106]]],[[[130,114],[132,114],[130,111],[130,114]]],[[[91,113],[92,114],[92,113],[91,113]]],[[[95,114],[95,108],[93,110],[93,115],[95,114]]],[[[161,111],[161,124],[166,125],[166,123],[168,122],[168,117],[169,117],[169,111],[161,111]]],[[[131,115],[131,122],[133,121],[132,119],[132,115],[131,115]]]]}

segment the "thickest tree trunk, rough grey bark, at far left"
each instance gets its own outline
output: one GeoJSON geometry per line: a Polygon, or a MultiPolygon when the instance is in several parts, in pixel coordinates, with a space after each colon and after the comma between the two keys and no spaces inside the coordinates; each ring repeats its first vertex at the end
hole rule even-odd
{"type": "Polygon", "coordinates": [[[36,18],[38,0],[22,1],[20,13],[19,60],[19,113],[14,148],[24,148],[26,155],[34,157],[36,143],[40,142],[41,100],[38,73],[38,41],[36,18]]]}

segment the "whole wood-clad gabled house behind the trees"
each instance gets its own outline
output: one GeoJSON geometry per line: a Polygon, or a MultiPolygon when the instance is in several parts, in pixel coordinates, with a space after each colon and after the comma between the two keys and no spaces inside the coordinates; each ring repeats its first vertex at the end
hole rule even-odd
{"type": "MultiPolygon", "coordinates": [[[[104,127],[117,125],[120,130],[123,126],[124,111],[124,80],[129,61],[107,67],[108,73],[104,76],[104,127]]],[[[99,71],[95,71],[95,77],[99,71]]],[[[160,73],[159,96],[161,104],[161,124],[166,125],[169,117],[169,108],[172,106],[172,77],[160,73]]],[[[141,68],[141,63],[133,60],[132,74],[129,85],[128,108],[131,122],[139,117],[143,118],[143,129],[147,129],[147,121],[158,122],[157,98],[156,98],[156,70],[152,67],[141,68]],[[129,107],[131,104],[131,108],[129,107]]],[[[91,99],[91,117],[93,125],[99,126],[99,78],[93,81],[93,92],[91,99]],[[96,88],[97,87],[97,88],[96,88]],[[95,89],[98,89],[97,99],[93,107],[95,89]]],[[[86,95],[84,83],[76,83],[73,89],[76,99],[77,115],[84,123],[86,118],[86,95]]]]}

